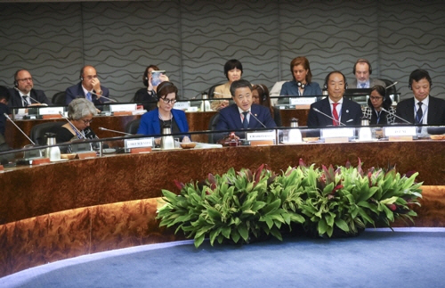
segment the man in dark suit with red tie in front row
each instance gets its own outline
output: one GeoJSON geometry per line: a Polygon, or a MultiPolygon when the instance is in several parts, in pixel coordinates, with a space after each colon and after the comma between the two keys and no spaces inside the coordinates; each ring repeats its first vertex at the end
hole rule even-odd
{"type": "Polygon", "coordinates": [[[342,72],[333,71],[328,74],[325,79],[328,97],[311,104],[308,127],[360,125],[363,115],[360,104],[344,99],[346,87],[346,78],[342,72]]]}

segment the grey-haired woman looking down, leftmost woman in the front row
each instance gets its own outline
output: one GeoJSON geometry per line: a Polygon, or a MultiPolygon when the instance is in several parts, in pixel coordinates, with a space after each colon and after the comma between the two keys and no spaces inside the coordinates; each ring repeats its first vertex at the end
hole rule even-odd
{"type": "Polygon", "coordinates": [[[69,142],[77,139],[96,139],[93,129],[90,127],[93,116],[97,114],[93,102],[85,98],[77,98],[68,106],[69,123],[54,130],[56,142],[69,142]]]}

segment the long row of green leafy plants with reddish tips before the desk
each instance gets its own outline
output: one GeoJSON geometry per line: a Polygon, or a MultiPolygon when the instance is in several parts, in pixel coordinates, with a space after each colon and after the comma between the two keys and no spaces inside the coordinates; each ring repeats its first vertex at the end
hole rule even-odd
{"type": "Polygon", "coordinates": [[[159,226],[176,226],[195,240],[210,243],[250,243],[263,236],[282,240],[295,226],[307,235],[357,235],[366,226],[391,226],[395,218],[417,216],[412,204],[422,196],[417,173],[410,177],[394,169],[306,166],[276,175],[266,165],[255,171],[229,169],[201,183],[176,182],[180,193],[163,190],[166,205],[158,210],[159,226]]]}

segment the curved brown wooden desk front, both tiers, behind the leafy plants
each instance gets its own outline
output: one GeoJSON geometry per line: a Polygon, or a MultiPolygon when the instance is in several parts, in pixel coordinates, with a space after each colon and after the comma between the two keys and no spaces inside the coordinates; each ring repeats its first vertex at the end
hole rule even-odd
{"type": "MultiPolygon", "coordinates": [[[[48,261],[145,243],[180,239],[158,227],[161,189],[208,173],[256,169],[279,172],[306,163],[417,170],[425,185],[445,185],[442,141],[295,144],[178,150],[69,160],[0,173],[0,276],[48,261]],[[146,199],[151,198],[151,199],[146,199]]],[[[424,192],[417,226],[445,226],[445,189],[424,192]]],[[[401,223],[401,226],[409,224],[401,223]]]]}

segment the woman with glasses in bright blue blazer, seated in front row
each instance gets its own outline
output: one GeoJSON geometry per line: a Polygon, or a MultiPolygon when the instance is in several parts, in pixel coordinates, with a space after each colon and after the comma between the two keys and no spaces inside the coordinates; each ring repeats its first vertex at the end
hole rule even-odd
{"type": "MultiPolygon", "coordinates": [[[[161,135],[162,128],[169,126],[172,134],[188,133],[189,124],[182,110],[174,109],[178,88],[172,82],[164,81],[158,85],[158,107],[143,114],[139,124],[138,134],[147,136],[161,135]]],[[[190,142],[189,136],[183,136],[182,142],[190,142]]],[[[160,138],[155,139],[160,143],[160,138]]]]}

